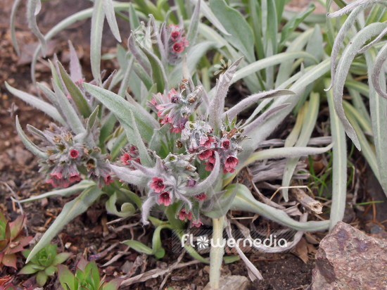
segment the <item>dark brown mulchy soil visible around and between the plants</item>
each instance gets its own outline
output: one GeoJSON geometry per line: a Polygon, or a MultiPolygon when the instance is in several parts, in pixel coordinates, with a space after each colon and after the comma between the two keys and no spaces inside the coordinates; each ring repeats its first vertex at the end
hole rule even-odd
{"type": "MultiPolygon", "coordinates": [[[[14,220],[15,217],[20,215],[21,210],[11,200],[11,196],[23,199],[52,189],[49,184],[43,182],[42,176],[38,172],[37,158],[25,149],[25,146],[15,133],[15,115],[19,116],[20,124],[23,128],[30,124],[42,130],[49,125],[51,120],[44,113],[27,106],[23,101],[10,94],[4,85],[4,82],[7,81],[13,87],[17,87],[30,94],[37,94],[30,78],[31,51],[37,45],[37,39],[28,29],[24,18],[25,11],[21,8],[16,22],[18,23],[16,36],[23,54],[21,58],[16,56],[8,30],[8,19],[13,0],[3,0],[2,3],[3,13],[0,14],[0,210],[10,220],[14,220]]],[[[46,27],[52,27],[58,23],[58,20],[89,6],[91,6],[89,1],[53,0],[44,2],[42,12],[39,14],[39,25],[41,24],[42,30],[45,33],[48,31],[46,27]],[[50,11],[55,11],[55,13],[50,13],[50,11]]],[[[120,21],[120,27],[123,39],[127,39],[129,35],[127,25],[120,21]]],[[[109,32],[105,35],[103,40],[105,44],[104,52],[114,51],[115,40],[109,35],[109,32]]],[[[68,51],[68,39],[71,39],[77,51],[80,51],[82,65],[85,69],[84,74],[90,79],[91,73],[88,61],[89,21],[84,20],[81,23],[72,25],[70,29],[59,34],[49,44],[49,57],[52,57],[53,53],[58,53],[58,58],[65,65],[68,65],[68,53],[66,53],[68,51]]],[[[125,46],[125,41],[123,43],[125,46]]],[[[112,71],[115,66],[116,64],[110,61],[104,61],[102,65],[108,71],[112,71]]],[[[38,63],[37,80],[49,83],[50,77],[50,70],[47,68],[46,62],[38,63]]],[[[242,95],[245,94],[244,89],[238,87],[238,84],[233,89],[242,95]]],[[[326,110],[322,110],[322,114],[319,116],[319,126],[321,127],[316,130],[319,133],[323,132],[322,128],[324,128],[326,116],[326,110]]],[[[284,122],[284,125],[279,128],[275,137],[283,138],[286,136],[293,122],[293,118],[289,117],[288,122],[284,122]]],[[[32,141],[37,143],[39,140],[32,137],[32,141]]],[[[357,201],[371,201],[374,198],[374,200],[386,201],[386,196],[384,196],[379,184],[375,182],[374,175],[367,168],[362,156],[355,152],[350,161],[357,170],[353,179],[353,183],[357,184],[357,198],[355,199],[357,201]],[[369,193],[372,195],[369,195],[369,193]]],[[[265,193],[265,191],[262,192],[265,193]]],[[[44,198],[42,201],[24,203],[23,211],[27,215],[28,234],[41,237],[42,233],[49,228],[55,217],[61,212],[64,204],[70,201],[70,199],[61,197],[44,198]]],[[[347,222],[352,222],[353,225],[372,232],[374,225],[377,225],[376,222],[387,220],[386,210],[382,210],[382,206],[382,203],[376,203],[375,206],[365,206],[356,210],[350,209],[345,217],[347,222]],[[369,220],[374,222],[369,223],[369,220]]],[[[233,215],[241,216],[241,213],[233,213],[233,215]]],[[[322,217],[328,218],[329,215],[322,215],[322,217]]],[[[125,275],[127,270],[133,265],[138,264],[139,261],[141,261],[141,264],[138,267],[132,267],[132,276],[156,267],[172,265],[177,260],[177,254],[172,253],[171,250],[170,232],[162,232],[163,247],[166,253],[164,258],[156,260],[153,256],[141,255],[125,246],[125,244],[119,244],[120,241],[132,239],[132,237],[147,244],[152,239],[152,227],[142,227],[139,223],[140,217],[138,214],[127,220],[107,225],[108,222],[113,220],[115,220],[115,217],[107,215],[102,198],[99,203],[89,208],[87,213],[70,222],[61,234],[58,234],[53,240],[58,243],[58,248],[61,251],[73,253],[72,258],[65,262],[65,265],[68,265],[70,270],[74,269],[81,257],[88,260],[95,259],[100,266],[101,277],[112,279],[113,277],[125,275]],[[109,261],[110,265],[105,265],[109,261]]],[[[255,228],[280,228],[274,222],[263,220],[261,217],[255,219],[253,225],[255,228]]],[[[381,229],[374,234],[383,235],[384,233],[383,229],[381,229]]],[[[305,289],[311,282],[312,269],[315,263],[313,256],[318,243],[316,244],[313,241],[319,241],[323,237],[324,234],[309,235],[303,240],[303,245],[298,246],[294,253],[248,254],[248,258],[250,258],[251,262],[260,270],[264,277],[264,280],[260,282],[250,283],[248,289],[305,289]]],[[[186,254],[182,262],[190,260],[191,258],[186,254]]],[[[23,267],[22,258],[18,260],[18,267],[19,269],[23,267]]],[[[0,272],[0,277],[11,275],[14,277],[13,283],[18,285],[19,289],[23,289],[23,286],[34,285],[34,277],[15,276],[16,272],[12,268],[4,267],[0,272]]],[[[241,260],[224,265],[222,267],[222,274],[248,277],[246,267],[241,260]]],[[[149,279],[146,282],[123,288],[159,289],[163,279],[164,277],[149,279]]],[[[208,281],[208,266],[196,264],[170,272],[170,276],[163,288],[203,289],[208,281]]],[[[49,280],[44,289],[58,289],[58,279],[55,277],[49,280]]]]}

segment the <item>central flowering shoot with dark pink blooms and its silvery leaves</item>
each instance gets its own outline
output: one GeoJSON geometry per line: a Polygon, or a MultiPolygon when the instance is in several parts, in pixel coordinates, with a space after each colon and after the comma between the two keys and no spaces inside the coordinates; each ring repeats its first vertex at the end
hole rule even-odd
{"type": "MultiPolygon", "coordinates": [[[[168,92],[153,94],[148,106],[154,111],[158,124],[163,127],[151,122],[154,117],[150,113],[141,116],[145,122],[141,121],[139,115],[133,111],[132,104],[120,96],[91,84],[83,84],[84,89],[109,108],[125,128],[132,144],[122,150],[120,160],[111,163],[110,168],[121,181],[145,189],[144,203],[141,205],[142,222],[148,225],[148,220],[151,220],[158,227],[153,237],[153,248],[137,241],[125,241],[125,244],[137,251],[160,256],[163,253],[160,252],[160,242],[157,242],[160,239],[160,229],[180,229],[180,221],[189,221],[194,227],[200,227],[203,224],[201,215],[212,218],[214,234],[216,236],[217,233],[217,237],[221,239],[224,215],[232,205],[239,210],[255,208],[262,215],[297,229],[324,229],[328,226],[328,222],[296,222],[281,210],[258,201],[255,204],[253,202],[252,206],[249,200],[255,199],[253,196],[246,196],[245,186],[224,182],[230,179],[230,175],[232,180],[232,175],[241,168],[239,165],[255,160],[254,156],[248,154],[240,157],[243,146],[253,146],[249,144],[253,138],[248,137],[255,134],[255,125],[279,113],[287,104],[271,108],[258,119],[243,125],[242,122],[236,122],[236,115],[259,99],[293,94],[286,89],[254,94],[224,113],[224,98],[240,61],[241,59],[237,60],[220,76],[212,100],[208,99],[201,84],[195,86],[187,73],[184,73],[182,84],[177,90],[172,88],[168,92]],[[232,120],[229,120],[229,116],[232,120]],[[144,141],[146,136],[141,136],[142,130],[138,128],[140,125],[153,131],[149,141],[144,141]],[[169,220],[167,224],[151,217],[151,208],[156,206],[165,210],[169,220]]],[[[184,60],[183,72],[187,71],[184,60]]],[[[294,151],[279,151],[270,157],[308,155],[330,148],[331,146],[322,149],[303,147],[294,151]]],[[[265,151],[262,152],[265,156],[265,151]]],[[[195,258],[206,261],[189,249],[189,246],[186,248],[195,258]]],[[[222,255],[222,248],[215,247],[211,250],[210,276],[214,286],[219,282],[222,255]]]]}

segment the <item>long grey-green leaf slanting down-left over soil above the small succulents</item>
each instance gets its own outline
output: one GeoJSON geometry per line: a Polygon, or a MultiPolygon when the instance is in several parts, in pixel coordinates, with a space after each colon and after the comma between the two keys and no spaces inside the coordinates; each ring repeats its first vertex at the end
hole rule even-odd
{"type": "Polygon", "coordinates": [[[42,239],[39,240],[36,246],[32,249],[30,255],[27,258],[28,263],[33,256],[35,256],[44,246],[49,244],[53,237],[65,227],[75,217],[84,213],[91,204],[96,201],[101,195],[101,189],[98,186],[89,187],[85,189],[80,196],[77,196],[74,200],[68,202],[63,206],[61,213],[56,217],[51,227],[44,233],[42,239]]]}

